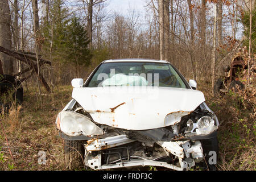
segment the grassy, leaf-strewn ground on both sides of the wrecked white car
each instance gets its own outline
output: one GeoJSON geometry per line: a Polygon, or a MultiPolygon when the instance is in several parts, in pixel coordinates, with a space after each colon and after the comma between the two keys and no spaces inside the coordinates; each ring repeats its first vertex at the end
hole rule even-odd
{"type": "MultiPolygon", "coordinates": [[[[232,92],[214,98],[209,88],[209,84],[199,83],[220,121],[218,170],[255,170],[255,105],[247,106],[232,92]]],[[[0,170],[66,170],[55,119],[71,100],[71,93],[71,85],[57,86],[53,94],[42,90],[41,98],[32,86],[24,89],[23,104],[0,116],[0,170]],[[41,161],[44,154],[46,160],[41,161]]]]}

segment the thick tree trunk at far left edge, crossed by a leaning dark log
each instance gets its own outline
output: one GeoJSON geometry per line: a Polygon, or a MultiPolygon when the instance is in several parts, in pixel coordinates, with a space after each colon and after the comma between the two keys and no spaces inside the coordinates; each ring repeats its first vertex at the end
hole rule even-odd
{"type": "MultiPolygon", "coordinates": [[[[0,1],[0,46],[11,49],[11,13],[8,0],[0,1]]],[[[4,74],[13,75],[13,59],[0,53],[2,61],[2,70],[4,74]]],[[[0,68],[1,72],[1,68],[0,68]]]]}

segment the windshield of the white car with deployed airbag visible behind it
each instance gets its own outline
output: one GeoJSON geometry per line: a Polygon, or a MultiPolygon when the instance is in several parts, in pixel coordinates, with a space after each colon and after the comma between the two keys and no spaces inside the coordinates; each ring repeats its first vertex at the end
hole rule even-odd
{"type": "Polygon", "coordinates": [[[102,63],[86,85],[187,88],[171,64],[153,62],[102,63]]]}

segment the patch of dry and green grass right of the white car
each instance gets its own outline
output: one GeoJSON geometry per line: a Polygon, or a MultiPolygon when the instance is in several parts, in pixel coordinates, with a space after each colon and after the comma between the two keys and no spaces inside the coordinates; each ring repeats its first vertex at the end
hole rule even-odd
{"type": "MultiPolygon", "coordinates": [[[[256,117],[255,103],[245,99],[247,94],[229,92],[221,97],[213,97],[209,85],[201,85],[208,106],[216,113],[220,122],[219,170],[256,169],[256,117]]],[[[254,87],[254,86],[251,86],[254,87]]],[[[250,89],[250,88],[247,88],[250,89]]]]}

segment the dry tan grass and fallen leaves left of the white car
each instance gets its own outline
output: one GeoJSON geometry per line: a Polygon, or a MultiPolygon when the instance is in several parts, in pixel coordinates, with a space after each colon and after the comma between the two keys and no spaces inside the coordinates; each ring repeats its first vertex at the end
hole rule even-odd
{"type": "Polygon", "coordinates": [[[55,94],[39,95],[30,88],[21,106],[12,105],[1,115],[13,159],[0,131],[0,170],[63,170],[63,141],[55,128],[57,113],[71,100],[72,87],[56,88],[55,94]],[[54,103],[54,104],[53,104],[54,103]],[[46,164],[39,164],[39,151],[46,152],[46,164]]]}

